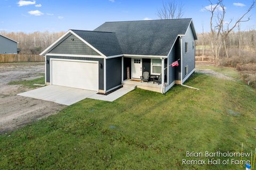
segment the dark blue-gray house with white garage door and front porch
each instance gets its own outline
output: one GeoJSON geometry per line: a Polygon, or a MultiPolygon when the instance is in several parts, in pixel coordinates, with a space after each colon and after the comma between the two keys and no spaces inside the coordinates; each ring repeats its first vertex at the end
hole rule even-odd
{"type": "Polygon", "coordinates": [[[46,84],[106,93],[122,84],[165,93],[195,71],[192,19],[105,22],[69,30],[41,55],[46,84]],[[171,63],[178,61],[179,66],[171,63]],[[139,82],[143,72],[162,83],[139,82]]]}

